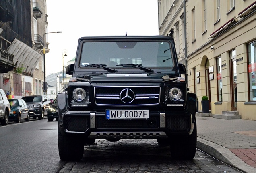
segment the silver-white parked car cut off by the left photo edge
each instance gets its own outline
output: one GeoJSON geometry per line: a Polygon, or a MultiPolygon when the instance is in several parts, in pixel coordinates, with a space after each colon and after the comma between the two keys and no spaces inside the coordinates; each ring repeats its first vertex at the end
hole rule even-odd
{"type": "Polygon", "coordinates": [[[0,123],[1,125],[8,124],[9,114],[10,114],[10,103],[4,93],[4,90],[0,89],[0,123]]]}

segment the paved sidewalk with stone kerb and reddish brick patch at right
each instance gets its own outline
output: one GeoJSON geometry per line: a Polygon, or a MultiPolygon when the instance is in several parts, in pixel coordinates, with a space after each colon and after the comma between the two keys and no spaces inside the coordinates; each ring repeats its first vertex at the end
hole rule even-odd
{"type": "Polygon", "coordinates": [[[256,121],[196,117],[197,148],[244,173],[256,173],[256,121]]]}

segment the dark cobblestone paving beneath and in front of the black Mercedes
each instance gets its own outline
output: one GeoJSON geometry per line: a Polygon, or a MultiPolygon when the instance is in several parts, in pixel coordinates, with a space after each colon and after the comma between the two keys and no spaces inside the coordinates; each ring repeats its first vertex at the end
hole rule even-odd
{"type": "Polygon", "coordinates": [[[191,161],[171,159],[169,146],[156,140],[123,139],[118,142],[96,140],[85,145],[79,162],[68,162],[60,173],[239,173],[200,150],[191,161]]]}

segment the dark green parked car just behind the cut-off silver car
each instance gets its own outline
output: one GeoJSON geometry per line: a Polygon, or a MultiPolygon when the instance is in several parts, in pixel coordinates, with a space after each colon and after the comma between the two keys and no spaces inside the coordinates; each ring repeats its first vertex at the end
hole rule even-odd
{"type": "Polygon", "coordinates": [[[15,121],[16,123],[20,123],[21,119],[30,120],[29,108],[23,99],[8,99],[8,101],[10,102],[11,108],[9,122],[15,121]]]}

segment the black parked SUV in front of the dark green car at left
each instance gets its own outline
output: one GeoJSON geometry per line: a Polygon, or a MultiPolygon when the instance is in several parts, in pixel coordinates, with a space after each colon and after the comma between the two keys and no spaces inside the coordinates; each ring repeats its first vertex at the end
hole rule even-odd
{"type": "Polygon", "coordinates": [[[47,109],[52,104],[46,95],[32,95],[22,97],[29,107],[29,116],[33,119],[44,119],[47,109]]]}

